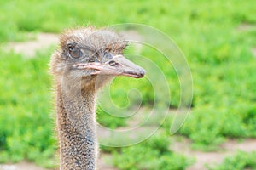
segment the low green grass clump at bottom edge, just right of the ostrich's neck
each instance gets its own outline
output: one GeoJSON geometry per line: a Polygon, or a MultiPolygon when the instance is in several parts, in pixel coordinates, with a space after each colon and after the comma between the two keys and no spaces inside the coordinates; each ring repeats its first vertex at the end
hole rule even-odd
{"type": "Polygon", "coordinates": [[[194,162],[169,150],[169,144],[165,133],[154,134],[145,142],[113,152],[113,165],[121,170],[182,170],[194,162]]]}

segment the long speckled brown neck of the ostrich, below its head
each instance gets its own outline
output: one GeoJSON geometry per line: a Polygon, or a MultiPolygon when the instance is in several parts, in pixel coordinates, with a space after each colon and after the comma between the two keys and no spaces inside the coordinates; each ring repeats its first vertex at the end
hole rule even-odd
{"type": "Polygon", "coordinates": [[[61,170],[96,169],[95,93],[56,91],[61,170]]]}

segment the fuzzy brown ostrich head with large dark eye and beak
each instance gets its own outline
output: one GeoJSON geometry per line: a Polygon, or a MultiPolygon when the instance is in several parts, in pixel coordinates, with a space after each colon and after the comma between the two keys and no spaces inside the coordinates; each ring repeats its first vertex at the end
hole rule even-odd
{"type": "Polygon", "coordinates": [[[126,46],[123,37],[106,29],[65,31],[61,35],[61,49],[52,56],[51,72],[67,82],[69,88],[82,86],[89,90],[101,88],[115,76],[143,77],[143,68],[123,56],[126,46]]]}

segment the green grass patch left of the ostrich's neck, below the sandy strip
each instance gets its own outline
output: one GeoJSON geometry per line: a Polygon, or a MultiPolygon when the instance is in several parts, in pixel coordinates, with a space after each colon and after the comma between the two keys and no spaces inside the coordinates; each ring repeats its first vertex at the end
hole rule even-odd
{"type": "Polygon", "coordinates": [[[0,162],[26,158],[52,166],[56,144],[49,107],[49,50],[35,59],[0,53],[0,162]]]}

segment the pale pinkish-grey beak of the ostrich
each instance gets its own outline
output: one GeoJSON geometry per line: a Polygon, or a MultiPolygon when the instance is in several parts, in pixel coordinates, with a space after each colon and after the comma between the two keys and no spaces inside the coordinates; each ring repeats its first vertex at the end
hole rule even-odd
{"type": "Polygon", "coordinates": [[[92,69],[94,71],[91,72],[91,75],[113,75],[141,78],[146,73],[142,67],[135,65],[128,59],[125,59],[123,55],[113,56],[113,59],[105,63],[79,63],[73,65],[73,67],[80,70],[92,69]]]}

